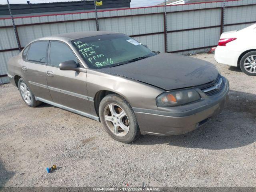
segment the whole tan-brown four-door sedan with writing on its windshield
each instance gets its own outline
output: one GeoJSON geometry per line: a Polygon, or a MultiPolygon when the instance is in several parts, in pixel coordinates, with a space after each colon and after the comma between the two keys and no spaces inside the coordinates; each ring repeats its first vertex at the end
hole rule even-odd
{"type": "Polygon", "coordinates": [[[45,102],[100,121],[126,143],[194,130],[222,111],[229,91],[213,64],[113,32],[34,40],[10,58],[8,76],[28,106],[45,102]]]}

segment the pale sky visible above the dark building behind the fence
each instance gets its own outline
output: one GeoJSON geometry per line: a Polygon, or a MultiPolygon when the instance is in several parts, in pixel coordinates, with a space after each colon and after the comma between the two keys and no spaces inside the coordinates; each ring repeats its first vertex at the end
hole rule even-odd
{"type": "MultiPolygon", "coordinates": [[[[72,0],[30,0],[30,3],[64,2],[72,0]]],[[[73,0],[74,1],[74,0],[73,0]]],[[[9,0],[10,4],[27,3],[27,0],[9,0]]],[[[146,7],[160,4],[164,0],[131,0],[131,7],[146,7]]],[[[7,4],[6,0],[0,0],[0,4],[7,4]]]]}

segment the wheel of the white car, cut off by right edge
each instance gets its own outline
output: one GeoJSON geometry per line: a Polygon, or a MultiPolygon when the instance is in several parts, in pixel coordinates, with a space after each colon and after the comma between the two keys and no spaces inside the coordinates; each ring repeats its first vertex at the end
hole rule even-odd
{"type": "Polygon", "coordinates": [[[246,75],[256,76],[256,51],[248,52],[241,58],[240,68],[246,75]],[[251,62],[249,62],[247,58],[249,58],[251,62]],[[252,71],[250,72],[251,69],[252,71]]]}

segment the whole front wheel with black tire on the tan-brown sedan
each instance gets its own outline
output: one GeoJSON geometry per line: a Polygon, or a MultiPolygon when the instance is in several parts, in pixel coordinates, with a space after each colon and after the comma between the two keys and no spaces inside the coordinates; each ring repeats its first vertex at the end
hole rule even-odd
{"type": "Polygon", "coordinates": [[[134,111],[123,97],[117,94],[109,94],[105,96],[100,102],[99,116],[106,132],[115,140],[130,143],[140,137],[140,128],[134,111]],[[112,108],[112,110],[110,110],[110,108],[112,108]],[[111,112],[113,110],[115,111],[111,112]],[[125,115],[123,114],[123,111],[125,115]],[[114,116],[115,113],[116,116],[114,116]],[[108,120],[106,120],[106,116],[108,120]],[[118,127],[117,129],[114,128],[115,123],[118,127]],[[122,129],[122,127],[125,127],[125,129],[122,129]]]}

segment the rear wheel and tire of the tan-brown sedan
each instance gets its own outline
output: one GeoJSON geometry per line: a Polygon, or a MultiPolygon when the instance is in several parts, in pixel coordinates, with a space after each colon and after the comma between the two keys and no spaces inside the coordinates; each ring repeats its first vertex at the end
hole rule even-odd
{"type": "Polygon", "coordinates": [[[28,85],[26,84],[23,78],[19,79],[18,87],[20,91],[20,96],[22,100],[26,103],[26,105],[30,107],[36,107],[42,103],[35,99],[34,94],[30,91],[28,85]]]}

